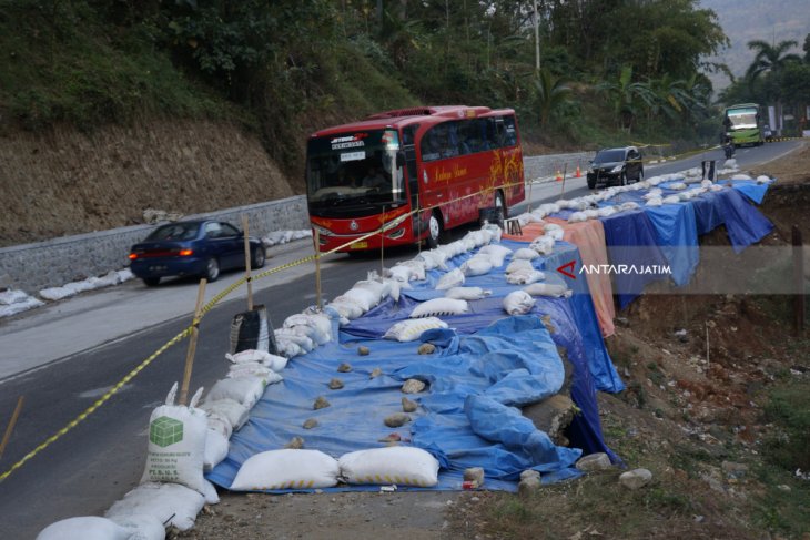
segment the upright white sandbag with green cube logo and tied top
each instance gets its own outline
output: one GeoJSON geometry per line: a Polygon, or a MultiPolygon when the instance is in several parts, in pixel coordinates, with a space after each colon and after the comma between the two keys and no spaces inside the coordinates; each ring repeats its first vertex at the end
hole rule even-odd
{"type": "Polygon", "coordinates": [[[207,430],[205,411],[196,408],[202,388],[191,398],[189,407],[174,405],[176,391],[175,383],[165,405],[154,409],[149,419],[146,467],[141,482],[175,482],[202,492],[207,430]]]}

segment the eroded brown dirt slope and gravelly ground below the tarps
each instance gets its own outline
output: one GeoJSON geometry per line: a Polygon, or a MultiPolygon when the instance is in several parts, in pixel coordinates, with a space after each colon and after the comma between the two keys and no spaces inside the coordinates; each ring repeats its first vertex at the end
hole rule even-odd
{"type": "MultiPolygon", "coordinates": [[[[777,225],[763,242],[787,245],[797,224],[807,244],[810,149],[756,173],[788,184],[774,186],[761,207],[777,225]]],[[[727,242],[722,228],[702,241],[727,242]]],[[[810,481],[794,469],[810,469],[801,461],[810,458],[791,448],[801,448],[802,426],[810,432],[810,340],[807,332],[794,335],[790,297],[672,293],[641,297],[618,314],[607,342],[628,389],[599,396],[603,429],[628,467],[652,471],[644,489],[621,488],[615,469],[524,498],[223,492],[193,530],[171,537],[808,538],[810,481]]]]}

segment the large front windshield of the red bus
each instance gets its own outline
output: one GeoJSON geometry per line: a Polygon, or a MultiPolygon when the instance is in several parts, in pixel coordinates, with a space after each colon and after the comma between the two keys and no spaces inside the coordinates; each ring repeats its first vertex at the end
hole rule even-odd
{"type": "Polygon", "coordinates": [[[311,139],[306,191],[318,207],[399,203],[403,171],[396,166],[395,130],[369,130],[311,139]]]}

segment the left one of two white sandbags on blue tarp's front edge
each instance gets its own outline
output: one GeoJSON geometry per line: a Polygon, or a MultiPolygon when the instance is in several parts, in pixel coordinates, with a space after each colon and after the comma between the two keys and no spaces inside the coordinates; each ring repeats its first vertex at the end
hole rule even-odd
{"type": "Polygon", "coordinates": [[[318,450],[270,450],[251,456],[239,469],[232,491],[331,488],[341,470],[337,460],[318,450]]]}

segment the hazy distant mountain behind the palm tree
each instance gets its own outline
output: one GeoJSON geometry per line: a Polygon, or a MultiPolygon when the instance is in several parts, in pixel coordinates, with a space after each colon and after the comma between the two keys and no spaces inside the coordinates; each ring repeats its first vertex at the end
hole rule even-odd
{"type": "MultiPolygon", "coordinates": [[[[731,47],[712,61],[725,62],[735,77],[745,74],[753,60],[748,49],[751,40],[769,43],[794,40],[799,47],[791,51],[803,54],[804,37],[810,33],[810,1],[808,0],[700,0],[702,8],[717,13],[731,47]]],[[[722,73],[710,74],[715,91],[728,86],[722,73]]]]}

